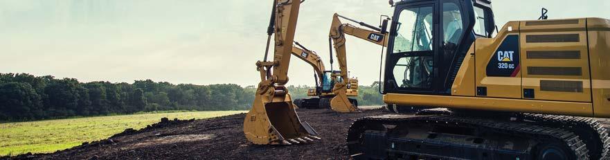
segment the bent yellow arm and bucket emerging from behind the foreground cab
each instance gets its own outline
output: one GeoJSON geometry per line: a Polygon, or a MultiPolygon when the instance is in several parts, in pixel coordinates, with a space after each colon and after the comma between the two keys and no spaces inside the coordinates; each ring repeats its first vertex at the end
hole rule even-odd
{"type": "MultiPolygon", "coordinates": [[[[346,58],[346,35],[352,35],[354,37],[364,39],[379,46],[387,46],[388,33],[386,33],[385,31],[386,26],[387,20],[384,20],[384,23],[382,24],[381,28],[377,28],[375,26],[370,26],[363,22],[358,22],[353,19],[343,17],[337,13],[333,15],[332,25],[330,27],[329,33],[329,43],[332,44],[332,46],[334,47],[334,51],[337,55],[337,61],[339,62],[339,69],[341,70],[341,74],[337,76],[341,76],[341,78],[343,79],[343,82],[336,82],[333,88],[333,93],[337,95],[330,101],[330,107],[333,110],[338,112],[357,111],[356,107],[354,107],[354,105],[350,103],[350,100],[348,100],[348,97],[346,95],[346,91],[348,91],[348,84],[352,83],[350,82],[350,78],[348,75],[348,62],[346,58]],[[340,18],[348,19],[349,21],[354,21],[360,26],[370,28],[370,30],[359,28],[351,24],[343,24],[340,18]]],[[[332,53],[332,49],[330,49],[330,52],[332,53]]],[[[337,79],[337,76],[333,76],[333,78],[337,79]]]]}

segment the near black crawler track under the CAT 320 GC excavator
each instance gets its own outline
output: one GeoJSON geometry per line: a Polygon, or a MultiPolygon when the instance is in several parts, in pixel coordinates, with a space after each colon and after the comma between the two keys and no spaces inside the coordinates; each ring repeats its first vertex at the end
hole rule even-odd
{"type": "MultiPolygon", "coordinates": [[[[549,119],[528,116],[535,118],[549,119]]],[[[370,116],[355,121],[347,138],[354,159],[540,159],[552,154],[548,146],[566,159],[589,159],[586,144],[562,126],[455,115],[370,116]]]]}

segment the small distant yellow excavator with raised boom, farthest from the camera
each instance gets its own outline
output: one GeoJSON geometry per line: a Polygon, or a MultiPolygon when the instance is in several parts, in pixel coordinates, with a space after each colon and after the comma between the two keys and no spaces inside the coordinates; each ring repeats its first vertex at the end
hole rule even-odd
{"type": "MultiPolygon", "coordinates": [[[[337,105],[330,103],[331,99],[337,96],[334,94],[334,84],[343,82],[343,77],[340,75],[340,71],[326,71],[322,59],[314,51],[311,51],[305,46],[295,42],[296,46],[292,48],[292,54],[298,57],[300,60],[307,62],[314,68],[314,79],[316,80],[316,87],[307,90],[307,98],[298,98],[294,100],[294,104],[299,108],[305,109],[325,109],[331,108],[337,112],[353,112],[355,109],[350,109],[348,105],[337,105]],[[334,107],[333,107],[334,106],[334,107]]],[[[350,85],[346,89],[346,94],[339,94],[339,96],[355,97],[358,96],[358,79],[348,79],[350,85]]],[[[355,98],[348,98],[349,103],[355,107],[358,106],[358,101],[355,98]]]]}

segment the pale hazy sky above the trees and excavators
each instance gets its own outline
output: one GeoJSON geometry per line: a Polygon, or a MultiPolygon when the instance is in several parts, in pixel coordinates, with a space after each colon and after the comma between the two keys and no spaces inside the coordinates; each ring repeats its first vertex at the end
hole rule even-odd
{"type": "MultiPolygon", "coordinates": [[[[0,0],[0,73],[54,75],[82,82],[154,80],[195,85],[260,82],[273,1],[0,0]]],[[[494,0],[496,24],[549,19],[610,19],[607,0],[494,0]]],[[[296,41],[321,55],[327,69],[332,15],[377,26],[387,0],[307,0],[296,41]]],[[[381,48],[347,39],[348,68],[360,85],[379,78],[381,48]]],[[[272,56],[271,56],[272,57],[272,56]]],[[[292,57],[288,85],[314,85],[310,65],[292,57]]],[[[334,64],[337,69],[337,64],[334,64]]]]}

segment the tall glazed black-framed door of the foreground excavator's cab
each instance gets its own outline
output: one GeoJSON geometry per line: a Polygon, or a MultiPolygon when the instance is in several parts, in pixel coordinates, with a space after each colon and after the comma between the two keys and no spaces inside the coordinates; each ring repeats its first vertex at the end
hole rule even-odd
{"type": "Polygon", "coordinates": [[[434,93],[438,83],[437,8],[436,1],[396,6],[386,59],[386,93],[434,93]]]}

